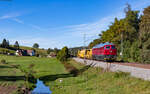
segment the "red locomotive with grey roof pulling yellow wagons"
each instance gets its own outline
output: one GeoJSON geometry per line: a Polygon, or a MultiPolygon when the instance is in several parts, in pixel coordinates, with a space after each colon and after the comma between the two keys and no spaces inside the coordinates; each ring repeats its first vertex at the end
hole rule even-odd
{"type": "Polygon", "coordinates": [[[113,43],[100,43],[92,49],[79,50],[77,53],[79,58],[87,58],[93,60],[116,60],[117,49],[113,43]]]}

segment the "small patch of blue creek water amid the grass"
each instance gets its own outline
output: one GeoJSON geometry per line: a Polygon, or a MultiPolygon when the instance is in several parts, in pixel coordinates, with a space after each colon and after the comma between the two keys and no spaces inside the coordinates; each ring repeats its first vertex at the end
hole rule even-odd
{"type": "Polygon", "coordinates": [[[37,79],[36,88],[32,91],[31,94],[51,94],[52,91],[48,86],[45,86],[43,81],[37,79]]]}

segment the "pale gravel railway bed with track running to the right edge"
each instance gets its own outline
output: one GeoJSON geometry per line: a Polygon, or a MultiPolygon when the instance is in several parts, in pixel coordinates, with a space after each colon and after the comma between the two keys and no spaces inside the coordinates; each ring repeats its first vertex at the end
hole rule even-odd
{"type": "Polygon", "coordinates": [[[73,58],[76,62],[91,65],[91,67],[101,67],[113,72],[128,72],[131,76],[150,81],[150,65],[143,64],[127,64],[127,63],[107,63],[103,61],[87,60],[81,58],[73,58]],[[149,67],[148,67],[149,66],[149,67]]]}

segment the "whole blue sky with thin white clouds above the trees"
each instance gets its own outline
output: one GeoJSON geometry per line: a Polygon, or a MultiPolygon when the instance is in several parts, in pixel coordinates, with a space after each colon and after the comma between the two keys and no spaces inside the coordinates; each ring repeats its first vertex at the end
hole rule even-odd
{"type": "Polygon", "coordinates": [[[126,3],[142,14],[150,0],[0,0],[0,42],[47,49],[86,41],[87,46],[115,17],[124,18],[126,3]]]}

